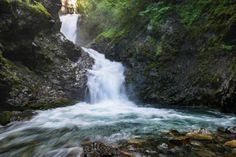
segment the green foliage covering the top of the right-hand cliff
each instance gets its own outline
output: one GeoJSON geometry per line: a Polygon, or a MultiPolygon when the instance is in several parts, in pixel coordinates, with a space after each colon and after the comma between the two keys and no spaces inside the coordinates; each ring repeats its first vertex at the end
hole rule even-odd
{"type": "Polygon", "coordinates": [[[91,32],[111,41],[125,35],[135,37],[151,26],[148,33],[156,49],[150,53],[155,56],[177,55],[185,41],[203,54],[233,50],[233,45],[224,41],[236,22],[236,4],[231,0],[78,0],[78,8],[86,16],[91,32]],[[164,33],[169,17],[176,20],[178,28],[170,27],[164,33]],[[204,44],[196,46],[198,41],[204,44]]]}

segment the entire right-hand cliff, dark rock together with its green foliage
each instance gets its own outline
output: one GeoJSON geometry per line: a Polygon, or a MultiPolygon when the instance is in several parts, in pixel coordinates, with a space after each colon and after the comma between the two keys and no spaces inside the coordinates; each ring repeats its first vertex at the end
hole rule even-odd
{"type": "Polygon", "coordinates": [[[236,113],[234,1],[125,4],[114,4],[123,18],[112,16],[91,46],[125,64],[131,97],[236,113]]]}

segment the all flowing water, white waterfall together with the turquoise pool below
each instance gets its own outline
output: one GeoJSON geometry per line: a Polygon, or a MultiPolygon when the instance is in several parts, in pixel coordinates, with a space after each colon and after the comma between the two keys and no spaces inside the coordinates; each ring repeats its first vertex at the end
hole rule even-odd
{"type": "MultiPolygon", "coordinates": [[[[77,23],[68,23],[70,16],[64,18],[64,28],[77,23]]],[[[73,26],[63,33],[72,37],[75,29],[73,26]]],[[[95,50],[83,49],[95,60],[88,70],[92,104],[81,102],[38,111],[29,121],[0,128],[0,156],[64,157],[87,138],[117,142],[133,136],[155,137],[169,129],[215,129],[236,123],[235,117],[211,110],[138,107],[125,96],[122,64],[107,60],[95,50]]]]}

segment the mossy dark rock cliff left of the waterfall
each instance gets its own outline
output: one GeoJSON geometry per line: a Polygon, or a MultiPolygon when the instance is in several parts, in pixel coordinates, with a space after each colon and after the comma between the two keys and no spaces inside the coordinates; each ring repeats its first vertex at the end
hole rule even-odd
{"type": "Polygon", "coordinates": [[[84,97],[93,60],[55,29],[56,11],[42,4],[0,2],[1,111],[50,108],[84,97]]]}

